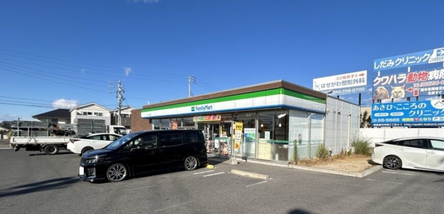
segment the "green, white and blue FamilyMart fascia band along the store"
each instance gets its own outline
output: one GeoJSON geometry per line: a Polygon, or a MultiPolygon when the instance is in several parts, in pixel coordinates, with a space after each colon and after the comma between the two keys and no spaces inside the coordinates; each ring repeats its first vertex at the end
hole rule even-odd
{"type": "Polygon", "coordinates": [[[285,88],[277,88],[146,108],[142,110],[141,116],[142,118],[160,118],[279,107],[323,113],[325,112],[325,106],[325,99],[285,88]]]}

